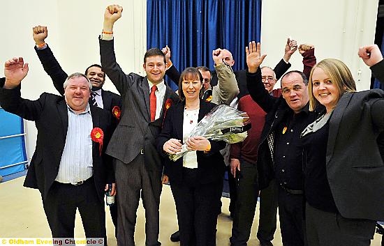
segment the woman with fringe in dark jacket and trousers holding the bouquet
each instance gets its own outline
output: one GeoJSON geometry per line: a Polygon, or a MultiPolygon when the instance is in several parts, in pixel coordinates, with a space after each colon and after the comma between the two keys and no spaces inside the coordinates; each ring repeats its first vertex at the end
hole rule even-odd
{"type": "Polygon", "coordinates": [[[219,151],[223,141],[188,137],[195,125],[216,105],[200,100],[202,76],[196,68],[186,68],[179,79],[181,101],[166,112],[163,130],[157,139],[163,155],[178,153],[182,144],[189,152],[173,162],[165,160],[164,174],[176,203],[180,245],[216,245],[217,211],[220,209],[225,164],[219,151]]]}

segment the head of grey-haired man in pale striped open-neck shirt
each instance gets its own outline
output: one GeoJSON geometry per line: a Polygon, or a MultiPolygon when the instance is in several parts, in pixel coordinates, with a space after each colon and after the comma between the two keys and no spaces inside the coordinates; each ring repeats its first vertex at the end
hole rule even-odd
{"type": "Polygon", "coordinates": [[[72,77],[64,89],[66,103],[76,113],[84,112],[87,107],[89,95],[89,83],[85,77],[72,77]]]}

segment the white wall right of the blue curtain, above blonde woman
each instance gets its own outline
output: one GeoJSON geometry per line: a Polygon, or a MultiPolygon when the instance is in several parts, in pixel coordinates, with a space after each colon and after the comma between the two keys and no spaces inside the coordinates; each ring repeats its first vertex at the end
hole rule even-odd
{"type": "MultiPolygon", "coordinates": [[[[378,0],[264,0],[262,8],[265,65],[273,67],[281,59],[286,39],[291,36],[299,44],[315,45],[317,61],[344,61],[355,77],[357,89],[369,89],[371,72],[357,56],[357,50],[374,43],[378,0]]],[[[291,69],[302,70],[299,52],[290,62],[291,69]]]]}

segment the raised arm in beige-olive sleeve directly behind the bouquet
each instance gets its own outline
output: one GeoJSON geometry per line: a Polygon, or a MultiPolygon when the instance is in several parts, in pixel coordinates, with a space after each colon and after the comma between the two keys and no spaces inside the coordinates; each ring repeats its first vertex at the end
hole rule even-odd
{"type": "Polygon", "coordinates": [[[222,49],[215,49],[212,52],[214,59],[214,69],[217,73],[217,85],[212,89],[212,101],[218,105],[230,105],[233,98],[239,94],[239,87],[232,68],[223,62],[222,49]]]}

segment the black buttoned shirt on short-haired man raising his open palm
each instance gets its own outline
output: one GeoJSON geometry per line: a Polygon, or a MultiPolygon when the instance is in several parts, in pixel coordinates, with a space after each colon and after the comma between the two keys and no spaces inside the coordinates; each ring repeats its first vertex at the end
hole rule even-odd
{"type": "Polygon", "coordinates": [[[316,118],[307,104],[301,112],[290,110],[274,130],[274,176],[290,190],[303,190],[302,139],[300,134],[316,118]]]}

